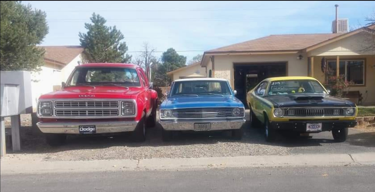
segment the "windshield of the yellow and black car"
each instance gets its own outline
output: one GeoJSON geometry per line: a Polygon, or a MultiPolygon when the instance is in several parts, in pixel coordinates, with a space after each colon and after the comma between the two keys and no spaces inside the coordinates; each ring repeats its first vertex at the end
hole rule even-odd
{"type": "Polygon", "coordinates": [[[315,80],[282,80],[270,83],[267,95],[288,94],[327,94],[327,92],[315,80]]]}

